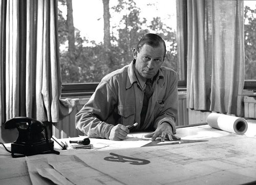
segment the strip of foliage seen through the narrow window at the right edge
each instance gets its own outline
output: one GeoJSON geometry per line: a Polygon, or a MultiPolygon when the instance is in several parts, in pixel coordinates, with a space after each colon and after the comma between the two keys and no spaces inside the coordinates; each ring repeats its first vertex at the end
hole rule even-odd
{"type": "Polygon", "coordinates": [[[256,79],[256,9],[245,7],[244,45],[245,79],[256,79]]]}

